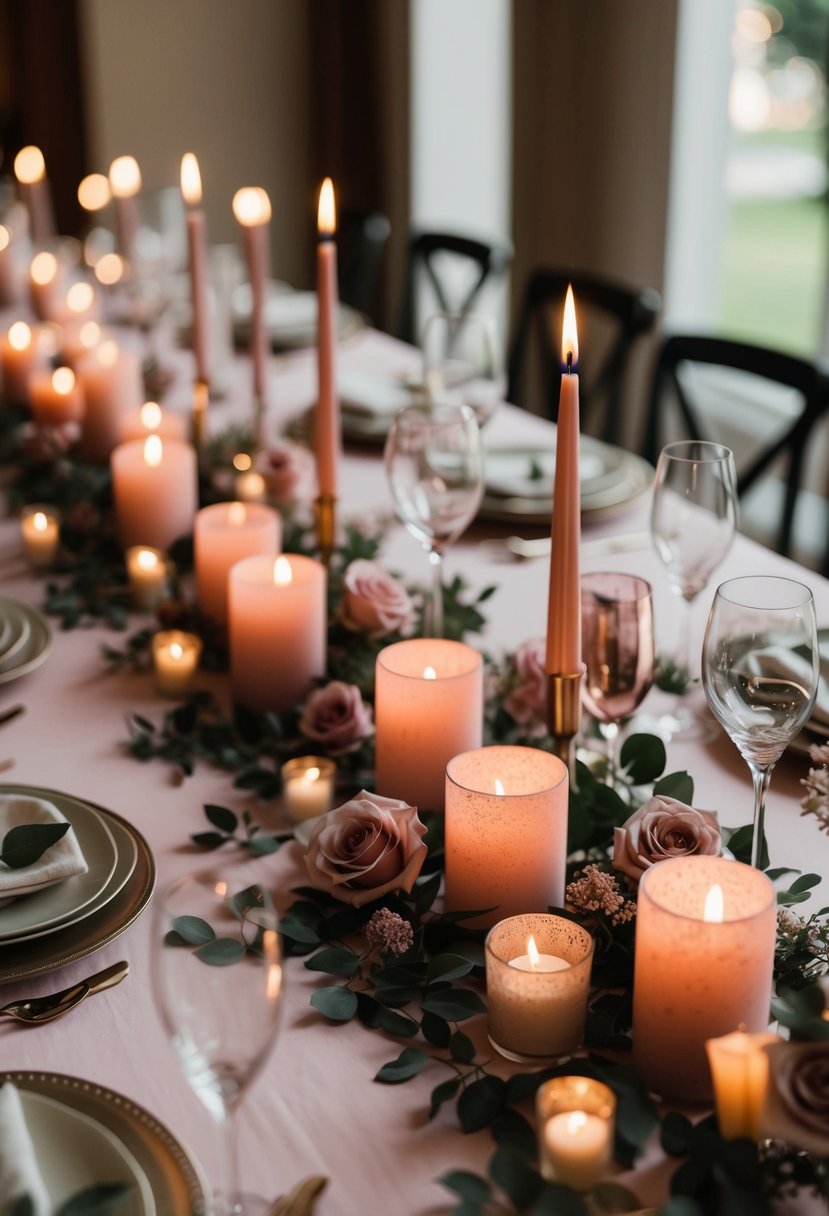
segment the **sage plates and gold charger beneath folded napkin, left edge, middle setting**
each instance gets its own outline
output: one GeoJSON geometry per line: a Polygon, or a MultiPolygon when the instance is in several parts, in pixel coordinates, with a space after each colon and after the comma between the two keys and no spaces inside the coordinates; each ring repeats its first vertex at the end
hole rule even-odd
{"type": "Polygon", "coordinates": [[[53,970],[112,941],[141,914],[156,880],[150,846],[131,823],[53,789],[0,786],[43,798],[72,824],[86,860],[77,874],[0,907],[0,984],[53,970]]]}

